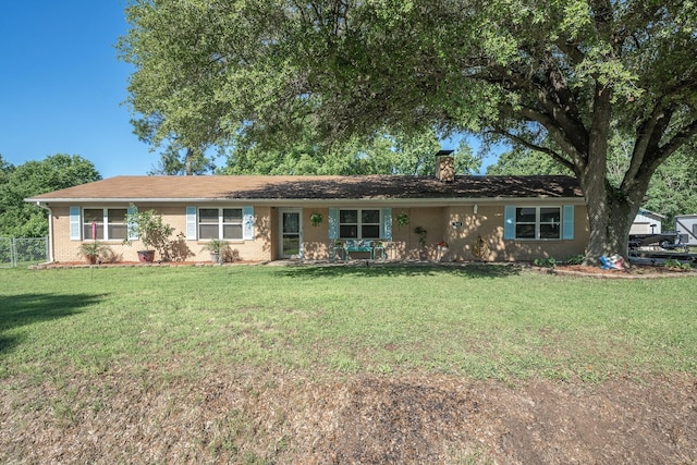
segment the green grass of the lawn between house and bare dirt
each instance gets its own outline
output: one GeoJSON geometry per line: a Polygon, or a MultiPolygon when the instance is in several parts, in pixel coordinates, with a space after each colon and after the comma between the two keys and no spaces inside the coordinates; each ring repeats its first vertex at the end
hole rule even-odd
{"type": "Polygon", "coordinates": [[[223,366],[509,382],[697,372],[695,278],[240,266],[0,269],[0,378],[223,366]]]}

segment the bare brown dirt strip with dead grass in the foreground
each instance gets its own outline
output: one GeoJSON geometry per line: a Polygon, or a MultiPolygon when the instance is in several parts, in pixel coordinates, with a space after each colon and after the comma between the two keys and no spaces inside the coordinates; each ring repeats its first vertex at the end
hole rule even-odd
{"type": "Polygon", "coordinates": [[[697,378],[518,386],[443,375],[147,369],[0,381],[3,463],[685,464],[697,378]]]}

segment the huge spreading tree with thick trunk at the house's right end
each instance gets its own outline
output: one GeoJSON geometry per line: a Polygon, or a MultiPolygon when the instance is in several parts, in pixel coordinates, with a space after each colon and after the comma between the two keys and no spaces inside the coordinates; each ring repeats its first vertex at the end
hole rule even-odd
{"type": "Polygon", "coordinates": [[[540,150],[578,179],[587,259],[626,249],[661,163],[697,133],[685,0],[132,0],[129,101],[186,146],[424,126],[540,150]],[[632,134],[619,182],[611,125],[632,134]]]}

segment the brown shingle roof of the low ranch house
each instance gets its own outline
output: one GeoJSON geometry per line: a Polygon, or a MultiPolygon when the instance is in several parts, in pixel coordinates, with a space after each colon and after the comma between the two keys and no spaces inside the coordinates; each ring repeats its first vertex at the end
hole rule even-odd
{"type": "Polygon", "coordinates": [[[571,176],[115,176],[28,198],[60,200],[428,199],[583,197],[571,176]]]}

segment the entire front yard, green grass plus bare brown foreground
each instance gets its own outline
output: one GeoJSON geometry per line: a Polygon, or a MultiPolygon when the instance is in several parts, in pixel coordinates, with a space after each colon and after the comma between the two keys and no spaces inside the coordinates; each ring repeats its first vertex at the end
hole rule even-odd
{"type": "Polygon", "coordinates": [[[0,462],[689,462],[695,282],[0,269],[0,462]]]}

